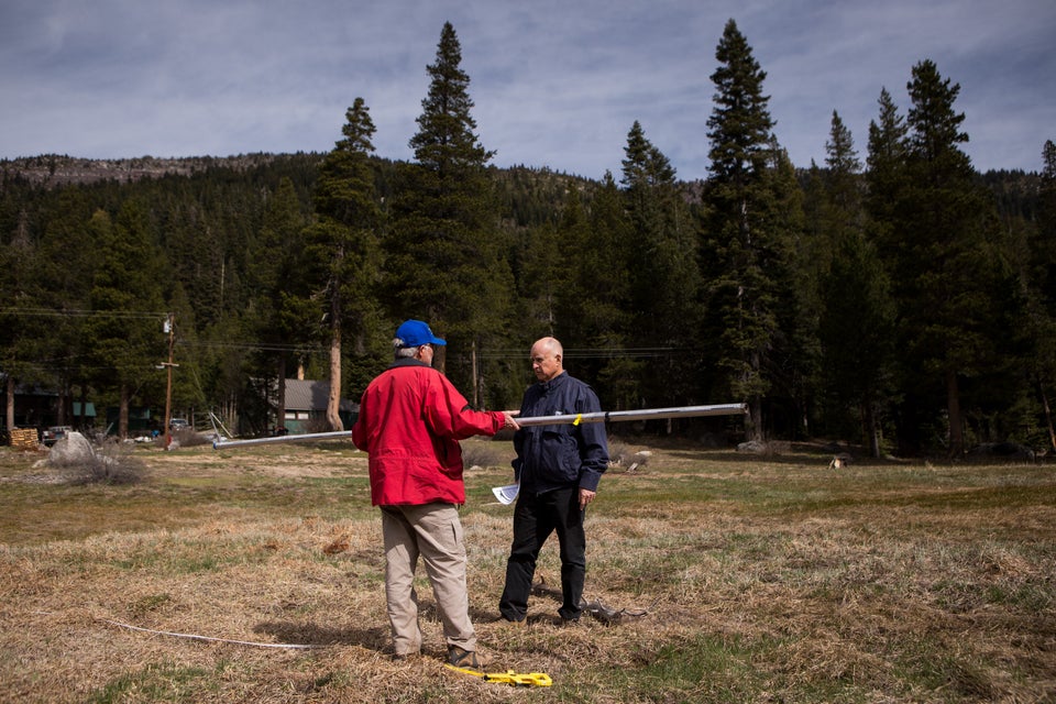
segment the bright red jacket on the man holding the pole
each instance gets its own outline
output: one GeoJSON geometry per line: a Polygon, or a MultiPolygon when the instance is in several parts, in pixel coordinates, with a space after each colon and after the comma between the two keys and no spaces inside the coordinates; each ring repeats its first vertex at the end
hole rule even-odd
{"type": "Polygon", "coordinates": [[[499,411],[470,408],[443,374],[416,360],[399,360],[363,392],[352,441],[370,454],[371,503],[465,503],[459,440],[493,436],[499,411]]]}

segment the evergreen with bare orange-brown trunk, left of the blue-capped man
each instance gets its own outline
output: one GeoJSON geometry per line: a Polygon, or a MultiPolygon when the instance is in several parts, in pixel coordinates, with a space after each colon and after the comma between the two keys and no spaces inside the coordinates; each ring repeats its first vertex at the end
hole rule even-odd
{"type": "Polygon", "coordinates": [[[329,330],[330,397],[327,421],[343,429],[340,416],[341,359],[344,332],[352,333],[360,352],[377,327],[373,292],[380,277],[381,210],[375,197],[370,154],[374,122],[362,98],[345,112],[338,141],[319,167],[315,208],[318,221],[306,231],[306,254],[315,263],[329,330]]]}

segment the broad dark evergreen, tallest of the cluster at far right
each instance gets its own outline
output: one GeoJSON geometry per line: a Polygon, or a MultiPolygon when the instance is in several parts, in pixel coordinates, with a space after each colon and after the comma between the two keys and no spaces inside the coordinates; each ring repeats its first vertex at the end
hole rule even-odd
{"type": "Polygon", "coordinates": [[[997,366],[1012,286],[993,204],[959,148],[968,141],[965,116],[954,109],[960,87],[943,79],[931,61],[914,66],[912,77],[905,189],[892,232],[900,346],[908,378],[924,374],[914,386],[933,382],[942,389],[942,400],[931,406],[936,418],[945,415],[947,450],[959,457],[961,386],[997,366]]]}

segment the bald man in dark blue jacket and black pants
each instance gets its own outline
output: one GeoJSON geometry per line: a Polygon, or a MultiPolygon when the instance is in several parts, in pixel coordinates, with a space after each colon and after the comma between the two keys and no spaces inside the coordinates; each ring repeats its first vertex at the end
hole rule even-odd
{"type": "MultiPolygon", "coordinates": [[[[521,418],[597,413],[597,395],[562,366],[564,352],[553,338],[531,346],[531,369],[539,380],[525,392],[521,418]]],[[[529,426],[514,433],[514,479],[520,484],[514,507],[514,541],[506,561],[506,586],[498,609],[508,622],[524,624],[536,560],[550,534],[561,551],[558,614],[563,623],[582,613],[586,574],[583,518],[608,466],[605,424],[529,426]]]]}

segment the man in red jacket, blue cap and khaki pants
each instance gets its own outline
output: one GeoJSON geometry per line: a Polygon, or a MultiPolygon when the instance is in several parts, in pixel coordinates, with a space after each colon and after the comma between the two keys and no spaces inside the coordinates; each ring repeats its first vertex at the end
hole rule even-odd
{"type": "Polygon", "coordinates": [[[509,411],[477,411],[432,369],[433,346],[447,344],[420,320],[396,330],[395,361],[360,400],[352,441],[370,454],[371,502],[382,509],[385,600],[397,659],[421,651],[415,568],[432,584],[448,662],[479,668],[465,585],[459,507],[465,503],[459,440],[518,428],[509,411]]]}

